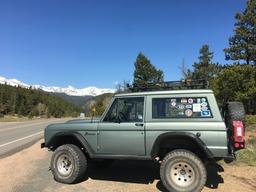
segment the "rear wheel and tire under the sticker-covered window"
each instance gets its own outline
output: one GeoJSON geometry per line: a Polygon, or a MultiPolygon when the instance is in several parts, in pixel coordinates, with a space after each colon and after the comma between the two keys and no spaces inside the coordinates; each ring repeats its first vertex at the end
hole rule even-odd
{"type": "Polygon", "coordinates": [[[194,153],[179,149],[164,157],[160,177],[170,192],[198,192],[206,183],[207,172],[201,159],[194,153]]]}

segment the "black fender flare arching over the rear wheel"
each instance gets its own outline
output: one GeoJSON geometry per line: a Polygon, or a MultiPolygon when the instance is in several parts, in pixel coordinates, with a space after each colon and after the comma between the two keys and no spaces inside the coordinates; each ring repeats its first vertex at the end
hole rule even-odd
{"type": "Polygon", "coordinates": [[[197,133],[195,135],[195,134],[189,133],[189,132],[167,132],[167,133],[163,133],[163,134],[159,135],[157,137],[157,139],[155,140],[154,145],[153,145],[152,150],[151,150],[151,157],[155,157],[157,155],[157,152],[159,151],[161,142],[164,139],[180,137],[180,138],[191,139],[206,154],[207,158],[210,158],[210,159],[214,158],[214,155],[212,154],[212,152],[207,148],[205,143],[199,138],[200,135],[201,135],[200,133],[197,133]]]}

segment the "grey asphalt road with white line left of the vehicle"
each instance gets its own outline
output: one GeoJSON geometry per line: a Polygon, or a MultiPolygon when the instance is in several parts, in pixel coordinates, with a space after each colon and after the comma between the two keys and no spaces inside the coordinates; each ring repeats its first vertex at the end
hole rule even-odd
{"type": "Polygon", "coordinates": [[[23,122],[0,122],[0,158],[26,148],[43,137],[44,128],[68,119],[39,119],[23,122]]]}

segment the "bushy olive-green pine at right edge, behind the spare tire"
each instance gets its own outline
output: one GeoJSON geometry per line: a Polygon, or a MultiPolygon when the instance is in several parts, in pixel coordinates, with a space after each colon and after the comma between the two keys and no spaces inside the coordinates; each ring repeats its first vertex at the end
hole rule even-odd
{"type": "Polygon", "coordinates": [[[248,114],[256,114],[256,67],[252,65],[227,65],[224,66],[214,89],[217,99],[226,101],[243,102],[248,114]]]}

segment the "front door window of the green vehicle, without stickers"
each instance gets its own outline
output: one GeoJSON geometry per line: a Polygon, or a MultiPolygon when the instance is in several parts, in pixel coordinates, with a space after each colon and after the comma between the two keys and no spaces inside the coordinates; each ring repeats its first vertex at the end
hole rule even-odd
{"type": "Polygon", "coordinates": [[[144,98],[119,98],[110,107],[105,122],[141,122],[143,121],[144,98]]]}

